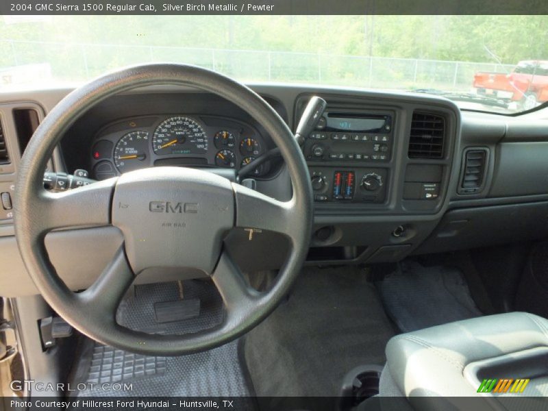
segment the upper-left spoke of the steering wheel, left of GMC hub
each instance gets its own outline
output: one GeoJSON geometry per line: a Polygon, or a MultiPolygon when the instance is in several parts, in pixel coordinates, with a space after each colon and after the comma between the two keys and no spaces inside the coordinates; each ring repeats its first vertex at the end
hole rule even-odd
{"type": "Polygon", "coordinates": [[[63,192],[38,192],[36,224],[52,229],[110,224],[110,206],[116,178],[63,192]]]}

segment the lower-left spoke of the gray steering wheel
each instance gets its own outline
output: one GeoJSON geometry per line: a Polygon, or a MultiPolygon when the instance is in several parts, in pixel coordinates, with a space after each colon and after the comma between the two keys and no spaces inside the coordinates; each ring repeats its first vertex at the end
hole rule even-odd
{"type": "Polygon", "coordinates": [[[97,281],[76,295],[77,300],[89,310],[114,319],[116,309],[134,279],[122,245],[97,281]]]}

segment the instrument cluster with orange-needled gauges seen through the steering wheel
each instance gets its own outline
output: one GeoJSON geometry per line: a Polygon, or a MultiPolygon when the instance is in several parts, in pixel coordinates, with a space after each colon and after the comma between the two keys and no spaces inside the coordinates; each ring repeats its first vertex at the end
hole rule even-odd
{"type": "MultiPolygon", "coordinates": [[[[152,166],[240,169],[266,151],[258,131],[219,116],[139,116],[101,129],[91,149],[92,177],[108,179],[152,166]]],[[[255,177],[269,172],[268,162],[255,177]]]]}

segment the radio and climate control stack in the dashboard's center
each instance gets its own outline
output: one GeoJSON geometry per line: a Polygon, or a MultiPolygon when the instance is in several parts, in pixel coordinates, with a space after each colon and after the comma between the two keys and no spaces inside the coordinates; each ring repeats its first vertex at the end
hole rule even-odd
{"type": "Polygon", "coordinates": [[[394,118],[390,111],[326,110],[303,147],[314,201],[385,201],[388,171],[382,165],[392,158],[394,118]]]}

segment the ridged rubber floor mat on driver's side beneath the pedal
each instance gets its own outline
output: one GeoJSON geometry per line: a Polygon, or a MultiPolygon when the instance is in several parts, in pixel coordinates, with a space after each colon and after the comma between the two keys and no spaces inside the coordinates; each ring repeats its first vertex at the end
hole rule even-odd
{"type": "MultiPolygon", "coordinates": [[[[210,282],[189,280],[136,286],[122,301],[116,319],[121,325],[156,334],[185,334],[208,329],[223,318],[223,303],[210,282]],[[154,304],[182,296],[199,298],[199,316],[172,323],[157,323],[154,304]]],[[[79,396],[181,396],[248,397],[252,388],[240,361],[240,340],[221,347],[178,357],[142,356],[87,341],[82,349],[76,382],[88,382],[94,390],[79,396]],[[101,390],[104,383],[131,384],[131,390],[101,390]],[[98,388],[99,387],[99,388],[98,388]]],[[[126,384],[126,385],[127,385],[126,384]]],[[[249,404],[248,408],[253,408],[249,404]]]]}

